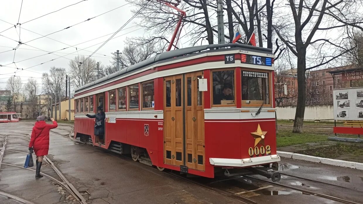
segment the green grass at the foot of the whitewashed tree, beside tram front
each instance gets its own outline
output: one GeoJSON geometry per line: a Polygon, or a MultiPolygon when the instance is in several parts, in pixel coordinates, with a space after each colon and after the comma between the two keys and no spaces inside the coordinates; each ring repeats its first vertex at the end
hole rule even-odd
{"type": "Polygon", "coordinates": [[[292,130],[278,130],[276,134],[277,147],[286,147],[306,142],[320,142],[328,140],[328,135],[311,133],[293,133],[292,130]]]}

